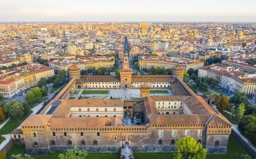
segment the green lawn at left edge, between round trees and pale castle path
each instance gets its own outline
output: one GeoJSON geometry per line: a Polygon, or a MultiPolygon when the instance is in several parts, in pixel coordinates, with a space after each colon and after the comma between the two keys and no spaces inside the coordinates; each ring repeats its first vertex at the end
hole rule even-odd
{"type": "Polygon", "coordinates": [[[25,119],[30,116],[31,113],[28,115],[21,117],[20,119],[10,119],[3,127],[0,129],[0,134],[5,135],[11,133],[14,129],[16,129],[25,119]]]}

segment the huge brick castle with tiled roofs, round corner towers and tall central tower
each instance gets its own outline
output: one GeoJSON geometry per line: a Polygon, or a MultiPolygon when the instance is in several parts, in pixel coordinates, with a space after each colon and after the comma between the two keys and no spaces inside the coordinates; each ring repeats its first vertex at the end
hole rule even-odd
{"type": "Polygon", "coordinates": [[[183,82],[185,68],[172,76],[132,76],[127,53],[120,77],[80,76],[71,66],[70,81],[37,115],[31,115],[11,135],[24,142],[27,154],[49,154],[77,146],[88,152],[176,152],[175,144],[191,136],[206,152],[227,153],[232,124],[218,115],[183,82]],[[150,96],[151,88],[169,87],[175,96],[150,96]],[[68,99],[76,89],[140,88],[141,98],[68,99]],[[140,125],[130,123],[134,121],[140,125]]]}

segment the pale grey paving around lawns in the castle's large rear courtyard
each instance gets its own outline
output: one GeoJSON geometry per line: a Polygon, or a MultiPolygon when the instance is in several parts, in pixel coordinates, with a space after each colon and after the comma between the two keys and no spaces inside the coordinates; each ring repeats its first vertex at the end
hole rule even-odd
{"type": "MultiPolygon", "coordinates": [[[[80,95],[82,97],[105,97],[104,99],[116,98],[116,99],[134,99],[140,98],[140,89],[137,88],[116,88],[116,89],[76,89],[79,90],[78,94],[72,94],[71,97],[78,99],[80,95]],[[108,90],[108,94],[82,94],[83,90],[108,90]]],[[[150,93],[150,96],[165,96],[175,95],[170,88],[156,88],[151,90],[168,90],[169,93],[150,93]]]]}

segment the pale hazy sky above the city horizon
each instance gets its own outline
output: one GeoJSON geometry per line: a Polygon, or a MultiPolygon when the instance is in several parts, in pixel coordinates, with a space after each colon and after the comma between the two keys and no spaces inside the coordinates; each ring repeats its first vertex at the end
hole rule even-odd
{"type": "Polygon", "coordinates": [[[256,22],[256,0],[0,0],[0,22],[256,22]]]}

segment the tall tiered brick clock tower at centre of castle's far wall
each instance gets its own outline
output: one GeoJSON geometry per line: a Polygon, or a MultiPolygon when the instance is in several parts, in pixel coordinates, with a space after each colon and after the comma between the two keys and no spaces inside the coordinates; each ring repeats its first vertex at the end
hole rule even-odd
{"type": "Polygon", "coordinates": [[[128,53],[124,53],[123,68],[120,69],[121,88],[132,87],[132,69],[129,68],[128,53]]]}

